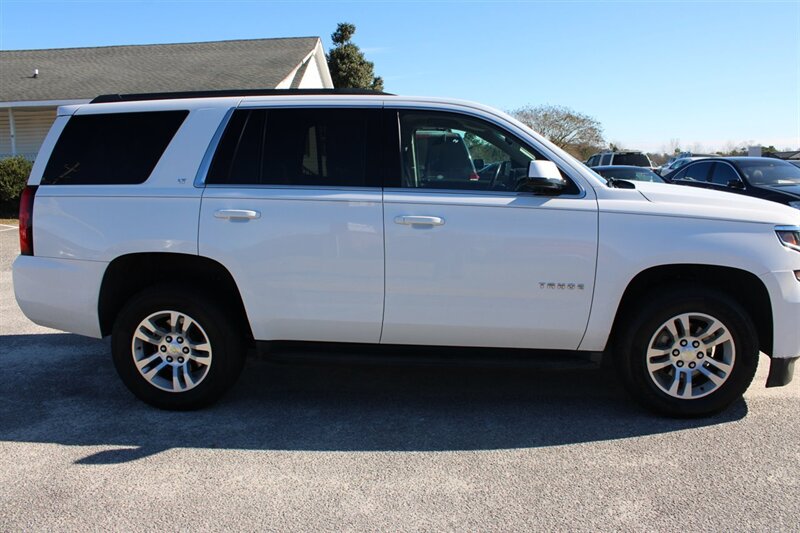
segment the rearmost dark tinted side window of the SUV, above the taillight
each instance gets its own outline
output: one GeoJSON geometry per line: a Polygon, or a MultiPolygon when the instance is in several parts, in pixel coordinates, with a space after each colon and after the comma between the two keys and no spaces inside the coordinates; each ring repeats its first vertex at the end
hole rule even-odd
{"type": "Polygon", "coordinates": [[[78,115],[58,138],[43,185],[143,183],[188,111],[78,115]]]}

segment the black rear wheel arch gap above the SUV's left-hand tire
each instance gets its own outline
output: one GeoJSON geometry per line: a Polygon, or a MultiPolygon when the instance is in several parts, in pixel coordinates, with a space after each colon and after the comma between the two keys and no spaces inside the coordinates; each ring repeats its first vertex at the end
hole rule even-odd
{"type": "Polygon", "coordinates": [[[101,334],[111,334],[117,314],[134,294],[170,281],[207,291],[229,305],[248,340],[253,339],[242,296],[228,269],[207,257],[170,252],[126,254],[108,264],[97,304],[101,334]]]}

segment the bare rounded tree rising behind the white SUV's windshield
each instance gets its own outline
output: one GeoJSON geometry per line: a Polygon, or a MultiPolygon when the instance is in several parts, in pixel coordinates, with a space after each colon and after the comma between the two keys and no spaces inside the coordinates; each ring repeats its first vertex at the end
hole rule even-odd
{"type": "Polygon", "coordinates": [[[605,144],[600,122],[568,107],[526,106],[511,114],[579,159],[586,159],[602,150],[605,144]]]}

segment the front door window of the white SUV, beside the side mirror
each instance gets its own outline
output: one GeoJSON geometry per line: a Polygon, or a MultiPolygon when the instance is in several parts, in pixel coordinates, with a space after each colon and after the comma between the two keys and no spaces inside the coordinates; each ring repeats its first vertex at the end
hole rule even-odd
{"type": "Polygon", "coordinates": [[[437,112],[401,111],[400,149],[411,188],[521,191],[530,162],[545,159],[492,124],[437,112]]]}

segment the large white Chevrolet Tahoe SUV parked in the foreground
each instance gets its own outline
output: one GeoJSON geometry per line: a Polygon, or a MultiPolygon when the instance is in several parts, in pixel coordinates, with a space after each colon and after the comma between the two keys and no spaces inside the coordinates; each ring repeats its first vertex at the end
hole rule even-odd
{"type": "Polygon", "coordinates": [[[38,324],[111,335],[125,384],[169,409],[269,341],[604,353],[672,415],[741,397],[759,350],[788,383],[800,212],[615,185],[472,103],[100,97],[60,108],[36,160],[14,288],[38,324]]]}

